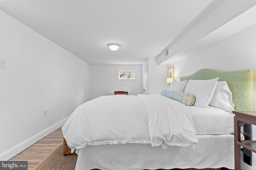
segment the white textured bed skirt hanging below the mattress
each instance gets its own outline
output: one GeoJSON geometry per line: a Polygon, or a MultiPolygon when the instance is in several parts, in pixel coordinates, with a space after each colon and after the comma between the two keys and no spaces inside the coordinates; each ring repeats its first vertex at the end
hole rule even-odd
{"type": "Polygon", "coordinates": [[[87,146],[77,150],[76,170],[234,169],[233,135],[197,135],[189,147],[152,147],[150,144],[87,146]]]}

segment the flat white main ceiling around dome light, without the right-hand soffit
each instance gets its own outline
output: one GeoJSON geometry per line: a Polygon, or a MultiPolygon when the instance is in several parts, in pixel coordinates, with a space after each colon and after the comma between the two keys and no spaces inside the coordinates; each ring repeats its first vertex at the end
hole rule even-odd
{"type": "Polygon", "coordinates": [[[0,10],[88,64],[142,64],[161,53],[212,2],[6,0],[0,10]],[[108,43],[122,47],[110,51],[108,43]]]}

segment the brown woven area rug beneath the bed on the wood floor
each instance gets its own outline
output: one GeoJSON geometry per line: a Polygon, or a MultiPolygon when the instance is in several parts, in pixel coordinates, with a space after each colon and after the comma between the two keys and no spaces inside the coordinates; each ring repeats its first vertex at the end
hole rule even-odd
{"type": "MultiPolygon", "coordinates": [[[[76,167],[76,160],[78,155],[63,155],[63,144],[58,147],[42,164],[40,164],[36,170],[74,170],[76,167]]],[[[98,169],[94,169],[98,170],[98,169]]],[[[175,169],[178,170],[178,169],[175,169]]],[[[197,170],[194,168],[190,168],[187,170],[197,170]]],[[[203,170],[220,170],[207,168],[203,170]]]]}

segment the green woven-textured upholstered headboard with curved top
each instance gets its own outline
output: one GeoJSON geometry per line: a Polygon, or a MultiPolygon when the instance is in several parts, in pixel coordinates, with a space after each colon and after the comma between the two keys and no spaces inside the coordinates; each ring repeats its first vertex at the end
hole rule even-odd
{"type": "Polygon", "coordinates": [[[183,80],[209,80],[219,77],[226,81],[232,92],[235,111],[254,111],[254,70],[236,70],[219,72],[210,69],[198,70],[190,76],[180,77],[183,80]]]}

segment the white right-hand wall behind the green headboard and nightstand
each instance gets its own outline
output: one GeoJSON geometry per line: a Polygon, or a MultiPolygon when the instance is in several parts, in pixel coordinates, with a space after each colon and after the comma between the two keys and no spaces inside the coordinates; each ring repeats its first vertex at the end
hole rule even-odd
{"type": "MultiPolygon", "coordinates": [[[[256,70],[256,24],[219,41],[203,51],[183,58],[174,63],[174,77],[188,76],[202,68],[217,71],[243,69],[256,70]]],[[[255,90],[256,92],[256,90],[255,90]]],[[[254,94],[255,95],[255,94],[254,94]]],[[[256,109],[254,102],[254,110],[256,109]]],[[[252,129],[252,138],[256,140],[256,129],[252,129]]],[[[256,155],[252,157],[252,167],[242,162],[242,169],[256,169],[256,155]]]]}

